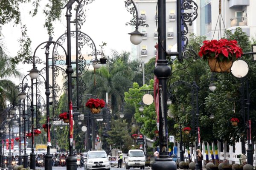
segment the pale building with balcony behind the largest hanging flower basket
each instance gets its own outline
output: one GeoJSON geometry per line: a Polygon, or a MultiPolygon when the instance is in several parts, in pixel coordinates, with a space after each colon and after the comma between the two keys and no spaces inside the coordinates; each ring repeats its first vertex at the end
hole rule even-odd
{"type": "Polygon", "coordinates": [[[220,39],[224,31],[234,32],[241,27],[249,37],[255,37],[256,15],[255,0],[222,0],[219,18],[219,0],[196,0],[198,18],[194,26],[196,35],[205,35],[207,39],[220,39]],[[214,33],[215,32],[215,33],[214,33]],[[221,36],[220,36],[221,33],[221,36]]]}

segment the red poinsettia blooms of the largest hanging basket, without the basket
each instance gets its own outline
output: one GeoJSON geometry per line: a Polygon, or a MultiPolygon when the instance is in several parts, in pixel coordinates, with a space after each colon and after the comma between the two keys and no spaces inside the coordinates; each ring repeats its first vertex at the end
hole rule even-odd
{"type": "Polygon", "coordinates": [[[236,60],[243,54],[242,49],[236,40],[205,40],[204,45],[200,48],[199,56],[207,59],[209,57],[218,58],[220,61],[231,59],[236,60]]]}

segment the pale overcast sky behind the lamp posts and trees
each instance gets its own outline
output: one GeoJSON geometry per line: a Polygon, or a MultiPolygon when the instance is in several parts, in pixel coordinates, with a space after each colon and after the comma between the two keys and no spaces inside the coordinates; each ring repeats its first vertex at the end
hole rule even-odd
{"type": "MultiPolygon", "coordinates": [[[[28,36],[32,40],[32,52],[44,41],[47,41],[49,35],[44,28],[44,16],[41,14],[42,8],[38,10],[36,17],[29,16],[30,6],[28,4],[20,6],[22,24],[26,24],[28,36]]],[[[96,44],[97,49],[102,42],[106,42],[105,54],[109,55],[110,50],[119,52],[131,51],[131,42],[129,32],[132,32],[131,26],[125,26],[125,23],[131,20],[131,14],[126,10],[124,0],[95,0],[93,3],[84,6],[86,22],[81,31],[88,34],[96,44]]],[[[54,24],[53,40],[56,40],[66,30],[66,9],[62,10],[62,21],[54,24]]],[[[73,13],[74,15],[75,13],[73,13]]],[[[2,33],[5,37],[6,47],[11,56],[16,56],[20,49],[18,40],[20,39],[20,25],[13,23],[3,26],[2,33]]],[[[25,73],[30,69],[24,65],[19,65],[20,71],[25,73]],[[24,68],[25,67],[25,68],[24,68]]],[[[32,68],[32,66],[31,66],[32,68]]]]}

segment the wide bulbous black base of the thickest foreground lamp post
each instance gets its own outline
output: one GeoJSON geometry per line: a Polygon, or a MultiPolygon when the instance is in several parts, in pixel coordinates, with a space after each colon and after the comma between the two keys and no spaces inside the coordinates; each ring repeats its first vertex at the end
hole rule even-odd
{"type": "Polygon", "coordinates": [[[177,170],[177,164],[169,157],[168,152],[161,152],[151,167],[152,170],[177,170]]]}

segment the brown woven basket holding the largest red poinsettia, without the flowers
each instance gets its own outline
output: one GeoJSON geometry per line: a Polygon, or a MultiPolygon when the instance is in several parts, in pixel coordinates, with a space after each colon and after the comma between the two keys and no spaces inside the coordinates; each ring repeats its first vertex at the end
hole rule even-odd
{"type": "Polygon", "coordinates": [[[222,72],[230,72],[230,68],[232,67],[233,61],[223,61],[220,62],[216,58],[208,58],[208,64],[211,69],[211,72],[217,72],[217,73],[222,73],[222,72]]]}

